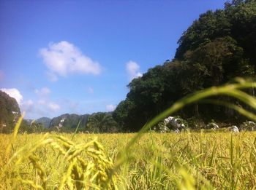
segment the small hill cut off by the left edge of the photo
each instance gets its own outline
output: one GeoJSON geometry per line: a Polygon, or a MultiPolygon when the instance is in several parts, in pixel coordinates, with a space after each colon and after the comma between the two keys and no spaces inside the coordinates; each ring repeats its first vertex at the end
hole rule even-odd
{"type": "Polygon", "coordinates": [[[0,132],[11,132],[20,116],[15,98],[0,90],[0,132]]]}

